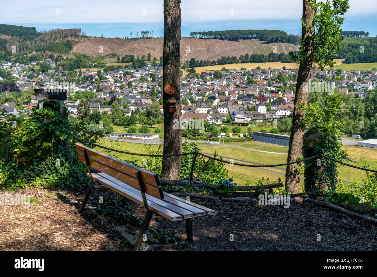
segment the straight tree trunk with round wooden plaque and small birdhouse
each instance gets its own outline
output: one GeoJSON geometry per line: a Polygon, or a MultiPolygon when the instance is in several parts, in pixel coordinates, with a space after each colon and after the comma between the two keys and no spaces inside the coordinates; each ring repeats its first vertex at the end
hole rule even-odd
{"type": "MultiPolygon", "coordinates": [[[[181,43],[181,1],[164,0],[164,53],[162,88],[164,99],[164,154],[182,152],[181,99],[179,96],[179,54],[181,43]],[[174,94],[166,93],[165,86],[173,84],[174,94]],[[169,101],[176,101],[175,111],[169,111],[169,101]],[[178,128],[177,128],[178,126],[178,128]]],[[[170,85],[170,88],[173,86],[170,85]]],[[[172,91],[169,91],[172,93],[172,91]]],[[[181,156],[163,157],[163,179],[179,179],[181,156]]]]}

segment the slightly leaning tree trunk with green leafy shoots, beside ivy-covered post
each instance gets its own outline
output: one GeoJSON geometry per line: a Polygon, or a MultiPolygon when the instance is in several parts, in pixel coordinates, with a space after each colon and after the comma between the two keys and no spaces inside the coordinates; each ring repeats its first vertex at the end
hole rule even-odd
{"type": "MultiPolygon", "coordinates": [[[[309,0],[302,0],[303,22],[311,25],[313,22],[314,10],[309,4],[309,0]]],[[[310,74],[313,67],[314,41],[310,39],[314,35],[314,28],[307,30],[302,26],[302,47],[307,53],[307,57],[300,61],[299,73],[297,76],[296,95],[294,97],[293,119],[291,127],[291,139],[289,142],[287,163],[296,161],[301,155],[303,129],[300,121],[305,111],[298,110],[297,106],[305,105],[308,102],[308,91],[310,74]]],[[[290,193],[297,193],[299,190],[300,174],[295,169],[296,164],[288,165],[285,171],[285,190],[290,193]]]]}

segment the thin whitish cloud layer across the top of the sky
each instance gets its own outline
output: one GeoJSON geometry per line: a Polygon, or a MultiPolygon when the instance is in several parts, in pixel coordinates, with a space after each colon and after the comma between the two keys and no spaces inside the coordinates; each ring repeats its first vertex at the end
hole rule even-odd
{"type": "MultiPolygon", "coordinates": [[[[349,0],[346,17],[376,14],[375,0],[349,0]]],[[[206,21],[301,18],[300,0],[182,0],[182,24],[206,21]]],[[[163,21],[163,1],[30,1],[12,0],[2,3],[0,23],[154,23],[163,21]],[[57,10],[59,9],[59,10],[57,10]],[[58,14],[58,15],[57,15],[58,14]]]]}

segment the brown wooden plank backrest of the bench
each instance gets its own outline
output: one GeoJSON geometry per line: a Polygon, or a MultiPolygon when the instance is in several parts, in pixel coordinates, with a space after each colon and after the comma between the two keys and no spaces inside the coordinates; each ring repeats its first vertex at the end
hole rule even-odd
{"type": "Polygon", "coordinates": [[[161,184],[156,173],[110,157],[101,152],[95,151],[92,148],[81,145],[80,143],[75,143],[75,146],[78,152],[78,158],[81,162],[86,164],[84,156],[85,150],[91,167],[100,170],[101,172],[104,172],[138,190],[140,190],[138,178],[138,172],[140,172],[146,189],[145,193],[159,199],[164,198],[161,184]]]}

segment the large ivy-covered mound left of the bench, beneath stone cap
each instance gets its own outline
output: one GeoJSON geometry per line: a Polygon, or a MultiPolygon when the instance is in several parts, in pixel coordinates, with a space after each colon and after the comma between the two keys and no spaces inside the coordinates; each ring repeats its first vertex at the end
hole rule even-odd
{"type": "Polygon", "coordinates": [[[86,168],[78,162],[68,120],[68,111],[60,113],[59,104],[46,102],[33,109],[29,119],[18,122],[11,131],[9,150],[2,157],[7,187],[80,186],[88,184],[86,168]]]}

